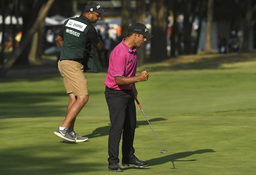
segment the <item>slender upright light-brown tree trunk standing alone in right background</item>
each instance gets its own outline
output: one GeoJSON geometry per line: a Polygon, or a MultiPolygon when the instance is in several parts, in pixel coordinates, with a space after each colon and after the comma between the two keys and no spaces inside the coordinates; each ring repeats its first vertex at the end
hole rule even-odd
{"type": "Polygon", "coordinates": [[[213,3],[214,0],[208,0],[207,4],[207,23],[206,23],[206,43],[205,52],[211,52],[211,30],[212,30],[212,19],[213,19],[213,3]]]}

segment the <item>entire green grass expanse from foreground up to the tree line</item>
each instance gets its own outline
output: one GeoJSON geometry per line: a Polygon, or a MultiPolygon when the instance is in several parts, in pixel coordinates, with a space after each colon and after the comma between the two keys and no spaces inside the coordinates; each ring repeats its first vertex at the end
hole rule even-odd
{"type": "Polygon", "coordinates": [[[160,153],[136,106],[135,155],[148,166],[120,163],[124,172],[108,171],[106,73],[86,74],[89,102],[77,117],[75,131],[89,140],[75,144],[53,134],[68,103],[59,74],[2,79],[0,174],[254,175],[256,58],[226,59],[211,59],[212,66],[187,57],[138,67],[149,72],[148,81],[136,84],[138,100],[168,151],[160,153]]]}

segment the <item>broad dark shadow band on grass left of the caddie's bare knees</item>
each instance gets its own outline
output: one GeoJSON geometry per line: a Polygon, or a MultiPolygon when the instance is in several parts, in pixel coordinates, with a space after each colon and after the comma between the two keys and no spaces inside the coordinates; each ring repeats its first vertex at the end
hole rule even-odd
{"type": "MultiPolygon", "coordinates": [[[[90,94],[103,94],[101,91],[92,91],[90,94]]],[[[52,117],[65,115],[68,104],[68,95],[63,90],[57,92],[0,92],[0,118],[23,117],[52,117]],[[60,105],[60,98],[67,100],[60,105]],[[53,103],[51,105],[49,103],[53,103]]]]}

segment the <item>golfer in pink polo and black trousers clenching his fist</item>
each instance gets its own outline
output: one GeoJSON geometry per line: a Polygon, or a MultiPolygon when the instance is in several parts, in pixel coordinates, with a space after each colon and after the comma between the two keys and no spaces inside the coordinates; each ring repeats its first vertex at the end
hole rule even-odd
{"type": "Polygon", "coordinates": [[[128,29],[128,35],[111,52],[108,74],[105,79],[105,98],[109,107],[111,128],[109,131],[108,153],[109,171],[123,171],[119,166],[119,143],[123,132],[122,165],[146,167],[148,164],[134,155],[133,139],[136,128],[136,108],[134,98],[137,97],[135,83],[147,81],[147,71],[136,76],[137,48],[142,46],[148,33],[144,24],[135,23],[128,29]]]}

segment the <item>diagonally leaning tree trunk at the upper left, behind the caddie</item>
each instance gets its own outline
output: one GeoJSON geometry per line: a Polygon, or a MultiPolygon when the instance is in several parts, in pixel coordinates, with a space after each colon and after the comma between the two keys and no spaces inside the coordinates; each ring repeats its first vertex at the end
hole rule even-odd
{"type": "Polygon", "coordinates": [[[37,20],[35,21],[34,25],[30,28],[30,30],[27,32],[27,34],[24,36],[22,41],[20,42],[20,46],[15,50],[14,53],[12,53],[11,57],[8,59],[6,63],[4,63],[3,67],[1,67],[0,76],[4,76],[7,73],[7,71],[12,67],[12,65],[15,63],[15,61],[20,56],[20,54],[22,54],[23,50],[29,44],[32,36],[38,30],[40,23],[44,21],[47,15],[47,12],[49,11],[53,2],[54,0],[48,0],[48,2],[41,7],[41,10],[38,13],[37,20]]]}

